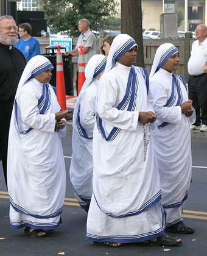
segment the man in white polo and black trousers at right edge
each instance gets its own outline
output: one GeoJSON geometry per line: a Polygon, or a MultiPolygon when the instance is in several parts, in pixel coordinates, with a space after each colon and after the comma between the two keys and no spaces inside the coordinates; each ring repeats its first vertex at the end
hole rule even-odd
{"type": "Polygon", "coordinates": [[[207,132],[207,27],[204,24],[198,25],[195,35],[197,40],[192,43],[188,61],[189,99],[192,100],[196,113],[191,130],[200,129],[200,132],[207,132]]]}

